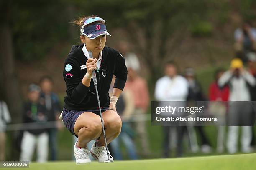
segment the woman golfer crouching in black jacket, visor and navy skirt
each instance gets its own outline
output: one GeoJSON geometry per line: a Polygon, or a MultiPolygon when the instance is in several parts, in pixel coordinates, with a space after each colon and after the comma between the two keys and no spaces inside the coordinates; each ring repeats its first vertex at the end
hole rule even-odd
{"type": "MultiPolygon", "coordinates": [[[[122,122],[116,113],[115,103],[125,86],[127,68],[122,55],[113,48],[105,46],[106,35],[110,35],[106,30],[105,20],[97,16],[89,16],[80,18],[74,23],[80,27],[82,44],[73,45],[65,60],[63,77],[67,96],[64,97],[62,118],[72,135],[78,137],[74,145],[76,163],[90,163],[89,153],[103,163],[108,160],[107,154],[110,155],[110,152],[105,147],[96,90],[91,80],[92,70],[97,70],[100,105],[106,140],[109,144],[121,131],[122,122]],[[90,51],[93,59],[89,58],[90,51]],[[110,98],[108,90],[113,75],[116,76],[116,80],[110,98]],[[94,139],[97,140],[89,150],[87,143],[94,139]]],[[[113,162],[111,155],[110,161],[113,162]]]]}

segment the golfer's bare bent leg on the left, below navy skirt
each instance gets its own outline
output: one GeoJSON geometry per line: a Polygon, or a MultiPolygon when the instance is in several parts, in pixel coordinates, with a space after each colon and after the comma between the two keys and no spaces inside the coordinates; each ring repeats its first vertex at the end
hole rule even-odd
{"type": "Polygon", "coordinates": [[[102,133],[100,116],[92,112],[82,113],[75,122],[74,133],[78,136],[77,145],[86,148],[88,142],[97,139],[102,133]]]}

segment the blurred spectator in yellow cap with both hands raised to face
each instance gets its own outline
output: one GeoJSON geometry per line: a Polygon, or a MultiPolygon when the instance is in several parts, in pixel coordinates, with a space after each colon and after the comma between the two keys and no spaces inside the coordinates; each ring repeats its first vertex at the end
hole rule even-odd
{"type": "MultiPolygon", "coordinates": [[[[220,87],[224,87],[226,84],[230,86],[228,123],[232,125],[250,123],[253,108],[250,102],[245,101],[251,100],[249,86],[255,86],[256,81],[253,75],[243,68],[241,59],[233,59],[230,70],[226,71],[218,80],[220,87]]],[[[239,126],[228,126],[227,148],[229,153],[236,153],[238,150],[238,128],[239,126]]],[[[242,152],[251,152],[251,138],[251,126],[242,126],[242,152]]]]}

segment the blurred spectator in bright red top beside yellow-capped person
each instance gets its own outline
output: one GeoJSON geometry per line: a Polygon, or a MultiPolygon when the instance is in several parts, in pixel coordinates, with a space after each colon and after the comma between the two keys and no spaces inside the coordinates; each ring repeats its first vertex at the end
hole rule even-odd
{"type": "MultiPolygon", "coordinates": [[[[225,70],[218,69],[215,71],[215,80],[212,82],[209,88],[209,112],[212,115],[218,117],[218,122],[225,124],[225,116],[227,112],[227,105],[224,101],[228,101],[229,96],[229,87],[225,85],[220,88],[218,86],[218,80],[223,75],[225,70]]],[[[217,135],[217,151],[222,153],[224,151],[224,138],[225,138],[225,126],[218,126],[218,135],[217,135]]]]}

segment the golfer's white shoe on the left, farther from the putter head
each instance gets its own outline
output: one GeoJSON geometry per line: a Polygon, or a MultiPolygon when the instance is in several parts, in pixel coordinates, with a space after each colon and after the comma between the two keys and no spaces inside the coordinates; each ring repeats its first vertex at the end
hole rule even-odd
{"type": "Polygon", "coordinates": [[[86,164],[90,163],[89,150],[88,148],[82,148],[76,146],[77,142],[74,145],[74,156],[76,158],[77,164],[86,164]]]}

